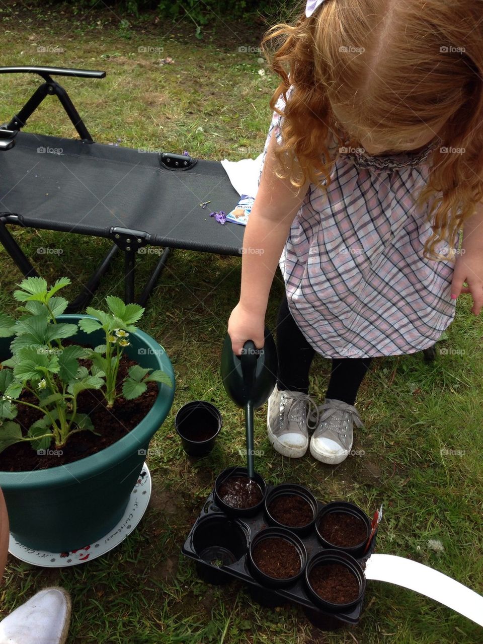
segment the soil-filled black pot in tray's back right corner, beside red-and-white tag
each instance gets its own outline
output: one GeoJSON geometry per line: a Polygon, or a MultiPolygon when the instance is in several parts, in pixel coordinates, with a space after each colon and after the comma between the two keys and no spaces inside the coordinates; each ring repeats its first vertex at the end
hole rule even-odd
{"type": "Polygon", "coordinates": [[[334,501],[320,509],[315,529],[324,547],[342,550],[358,558],[364,553],[371,526],[369,516],[360,507],[346,501],[334,501]]]}

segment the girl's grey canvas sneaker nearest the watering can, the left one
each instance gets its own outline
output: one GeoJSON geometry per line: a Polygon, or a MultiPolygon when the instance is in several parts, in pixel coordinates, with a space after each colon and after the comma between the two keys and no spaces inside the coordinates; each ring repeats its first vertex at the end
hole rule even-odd
{"type": "Polygon", "coordinates": [[[280,391],[275,385],[268,399],[268,439],[278,453],[291,459],[304,456],[309,446],[309,429],[316,427],[318,409],[308,393],[280,391]],[[313,411],[312,411],[313,410],[313,411]],[[307,415],[315,415],[310,425],[307,415]]]}

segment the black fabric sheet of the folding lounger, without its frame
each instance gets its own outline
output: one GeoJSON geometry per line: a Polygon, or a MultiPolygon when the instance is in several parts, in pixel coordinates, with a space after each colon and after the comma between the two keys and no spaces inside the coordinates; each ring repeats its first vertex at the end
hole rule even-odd
{"type": "Polygon", "coordinates": [[[0,151],[0,177],[0,213],[27,226],[98,237],[124,227],[152,245],[240,253],[244,226],[210,217],[239,200],[220,162],[172,171],[158,153],[19,132],[0,151]]]}

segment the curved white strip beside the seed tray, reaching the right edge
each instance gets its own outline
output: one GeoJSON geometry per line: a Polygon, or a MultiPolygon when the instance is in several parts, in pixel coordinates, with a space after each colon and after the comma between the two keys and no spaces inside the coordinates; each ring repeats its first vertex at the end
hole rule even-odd
{"type": "Polygon", "coordinates": [[[483,597],[427,565],[394,554],[372,554],[365,576],[421,592],[483,626],[483,597]]]}

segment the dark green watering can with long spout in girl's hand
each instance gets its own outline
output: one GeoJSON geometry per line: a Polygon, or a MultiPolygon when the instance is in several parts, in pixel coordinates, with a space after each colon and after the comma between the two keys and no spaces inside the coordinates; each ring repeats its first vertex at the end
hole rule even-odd
{"type": "Polygon", "coordinates": [[[232,350],[228,334],[221,352],[221,377],[224,390],[233,403],[245,408],[246,461],[248,478],[253,478],[253,410],[266,403],[277,381],[277,348],[268,328],[264,346],[257,349],[252,340],[243,345],[242,354],[232,350]]]}

